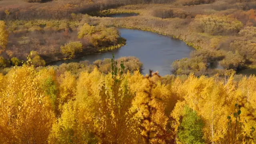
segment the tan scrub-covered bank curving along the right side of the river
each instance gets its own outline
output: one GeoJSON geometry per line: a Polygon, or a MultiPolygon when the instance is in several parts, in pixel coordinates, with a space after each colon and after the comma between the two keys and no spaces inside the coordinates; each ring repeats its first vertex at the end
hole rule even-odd
{"type": "MultiPolygon", "coordinates": [[[[256,49],[256,45],[253,42],[254,37],[244,35],[248,26],[246,27],[240,17],[232,18],[232,16],[234,16],[232,13],[235,12],[235,10],[230,10],[229,13],[227,13],[227,10],[214,10],[213,6],[214,4],[191,7],[180,7],[168,4],[130,5],[121,6],[117,9],[105,10],[104,12],[102,11],[102,13],[137,12],[139,14],[138,16],[123,18],[94,17],[92,19],[97,19],[97,21],[104,26],[138,29],[171,36],[172,38],[182,40],[186,42],[187,45],[194,47],[197,51],[192,52],[190,57],[186,59],[186,66],[182,66],[184,65],[185,59],[176,62],[175,65],[178,66],[179,69],[177,69],[178,71],[175,71],[176,74],[189,74],[190,72],[199,75],[213,74],[214,72],[207,72],[212,70],[209,66],[219,62],[224,69],[227,70],[255,67],[256,55],[250,54],[250,50],[248,50],[252,48],[256,49]],[[206,9],[201,12],[192,10],[193,8],[200,9],[200,7],[206,9]],[[160,8],[163,10],[161,11],[160,8]],[[160,13],[159,11],[162,12],[162,15],[158,14],[160,13]],[[168,12],[170,14],[168,14],[168,12]],[[203,12],[206,15],[199,15],[199,13],[203,12]],[[220,14],[225,15],[220,16],[220,14]],[[225,30],[223,25],[221,31],[218,31],[217,29],[214,31],[204,30],[203,28],[198,28],[201,21],[208,21],[212,24],[215,22],[215,25],[221,24],[218,23],[218,21],[223,21],[226,23],[227,28],[229,26],[231,29],[225,30]],[[229,23],[229,21],[232,23],[229,23]],[[232,29],[232,25],[236,25],[236,28],[232,29]],[[240,46],[239,43],[241,44],[240,46]]],[[[239,12],[243,13],[242,11],[239,12]]],[[[248,11],[248,13],[250,13],[250,11],[248,11]]],[[[213,25],[212,28],[214,27],[215,26],[213,25]]],[[[220,71],[222,70],[216,72],[220,71]]]]}

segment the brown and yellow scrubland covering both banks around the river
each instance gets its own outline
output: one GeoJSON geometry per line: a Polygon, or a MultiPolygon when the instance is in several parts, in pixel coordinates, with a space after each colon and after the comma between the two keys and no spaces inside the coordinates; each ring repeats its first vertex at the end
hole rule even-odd
{"type": "MultiPolygon", "coordinates": [[[[48,2],[44,3],[44,6],[47,4],[48,2]]],[[[189,58],[176,60],[172,64],[174,74],[192,72],[197,76],[216,73],[225,75],[226,71],[238,72],[256,67],[254,2],[201,0],[193,3],[189,0],[177,0],[167,4],[127,4],[124,1],[119,6],[115,3],[104,8],[99,8],[103,3],[89,2],[88,6],[97,6],[91,8],[91,12],[84,11],[83,14],[74,12],[85,6],[86,2],[80,5],[79,2],[58,4],[65,6],[64,9],[70,14],[65,17],[58,15],[58,18],[50,20],[40,19],[36,15],[31,20],[16,20],[14,14],[19,16],[22,12],[2,6],[2,10],[5,10],[0,19],[5,21],[2,27],[8,29],[9,36],[7,44],[2,46],[1,67],[14,65],[15,62],[10,62],[12,58],[26,60],[31,51],[38,53],[36,60],[49,63],[120,48],[125,40],[119,38],[118,31],[113,27],[170,36],[195,48],[196,51],[189,58]],[[220,7],[224,4],[225,7],[220,7]],[[138,15],[122,18],[97,17],[125,13],[138,15]],[[223,69],[214,69],[216,65],[223,69]]],[[[40,7],[35,10],[40,10],[40,7]]]]}

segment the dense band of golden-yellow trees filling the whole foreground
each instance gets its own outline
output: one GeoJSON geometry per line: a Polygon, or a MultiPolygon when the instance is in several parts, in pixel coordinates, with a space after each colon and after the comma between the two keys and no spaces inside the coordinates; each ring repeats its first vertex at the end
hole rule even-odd
{"type": "Polygon", "coordinates": [[[35,70],[30,62],[0,74],[0,142],[255,141],[254,76],[240,82],[232,75],[225,82],[194,75],[167,80],[157,73],[124,73],[123,62],[110,61],[110,73],[94,68],[78,78],[53,68],[35,70]]]}

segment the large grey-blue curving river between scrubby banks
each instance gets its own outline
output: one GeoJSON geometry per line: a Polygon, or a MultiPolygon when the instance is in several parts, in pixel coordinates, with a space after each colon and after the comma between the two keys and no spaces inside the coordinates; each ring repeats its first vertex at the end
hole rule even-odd
{"type": "Polygon", "coordinates": [[[61,60],[51,63],[51,65],[80,62],[82,60],[94,62],[98,59],[103,60],[104,58],[112,58],[112,54],[115,55],[115,58],[135,56],[143,63],[143,74],[148,73],[149,69],[151,69],[158,71],[161,76],[164,76],[166,74],[171,74],[171,64],[174,60],[188,57],[190,52],[194,50],[181,40],[162,36],[153,32],[125,28],[118,28],[118,30],[120,36],[127,40],[126,46],[122,46],[120,49],[103,54],[90,54],[72,60],[61,60]]]}

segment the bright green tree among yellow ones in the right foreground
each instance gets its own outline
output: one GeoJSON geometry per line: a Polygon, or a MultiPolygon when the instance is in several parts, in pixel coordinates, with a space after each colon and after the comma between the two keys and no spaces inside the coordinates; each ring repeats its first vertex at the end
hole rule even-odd
{"type": "Polygon", "coordinates": [[[196,111],[184,107],[182,122],[178,128],[178,138],[184,144],[204,144],[203,120],[196,111]]]}

